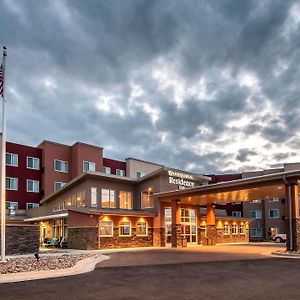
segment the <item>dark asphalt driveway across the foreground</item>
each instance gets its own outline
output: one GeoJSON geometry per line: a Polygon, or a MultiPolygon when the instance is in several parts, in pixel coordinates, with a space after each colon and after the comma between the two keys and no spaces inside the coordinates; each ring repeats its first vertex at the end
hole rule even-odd
{"type": "MultiPolygon", "coordinates": [[[[199,256],[199,250],[184,251],[199,256]]],[[[221,248],[206,251],[221,255],[213,253],[221,248]]],[[[300,260],[268,258],[259,256],[257,248],[252,251],[246,254],[248,258],[217,261],[178,259],[175,263],[176,253],[180,257],[182,251],[169,250],[166,253],[172,263],[116,267],[105,266],[105,262],[94,272],[79,276],[1,285],[0,299],[299,299],[300,260]]],[[[156,251],[144,255],[151,253],[159,257],[156,251]]],[[[116,264],[118,254],[113,255],[116,264]]]]}

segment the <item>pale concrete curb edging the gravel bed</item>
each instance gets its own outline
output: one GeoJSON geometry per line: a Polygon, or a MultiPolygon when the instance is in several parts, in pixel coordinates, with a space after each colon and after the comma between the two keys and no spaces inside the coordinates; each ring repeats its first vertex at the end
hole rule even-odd
{"type": "Polygon", "coordinates": [[[93,271],[95,269],[95,266],[98,263],[107,260],[109,258],[110,257],[107,255],[101,255],[100,257],[88,257],[78,261],[75,266],[68,269],[1,274],[0,284],[37,280],[37,279],[48,279],[48,278],[55,278],[55,277],[66,277],[66,276],[74,276],[83,273],[88,273],[93,271]]]}

